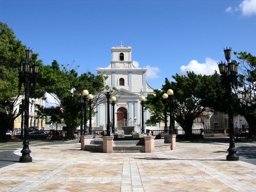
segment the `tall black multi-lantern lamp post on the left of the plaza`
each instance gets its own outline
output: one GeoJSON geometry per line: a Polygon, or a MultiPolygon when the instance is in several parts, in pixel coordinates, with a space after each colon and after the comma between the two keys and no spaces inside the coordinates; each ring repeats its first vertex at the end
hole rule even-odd
{"type": "Polygon", "coordinates": [[[29,96],[30,96],[30,88],[31,83],[33,82],[34,88],[36,88],[36,78],[38,73],[38,65],[31,64],[31,56],[32,56],[33,49],[26,50],[26,62],[19,64],[19,89],[21,85],[24,84],[25,87],[25,122],[24,122],[24,141],[23,141],[23,148],[20,151],[22,156],[20,157],[20,163],[30,163],[32,162],[32,157],[30,156],[30,149],[29,149],[29,141],[28,141],[28,120],[29,120],[29,96]]]}

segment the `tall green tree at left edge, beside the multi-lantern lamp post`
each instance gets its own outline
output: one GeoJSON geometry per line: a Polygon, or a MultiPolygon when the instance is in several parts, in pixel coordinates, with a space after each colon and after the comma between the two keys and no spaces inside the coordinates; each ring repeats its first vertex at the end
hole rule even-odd
{"type": "Polygon", "coordinates": [[[0,22],[0,140],[5,139],[8,129],[13,130],[13,122],[20,115],[17,100],[19,90],[18,63],[25,58],[25,46],[7,24],[0,22]]]}

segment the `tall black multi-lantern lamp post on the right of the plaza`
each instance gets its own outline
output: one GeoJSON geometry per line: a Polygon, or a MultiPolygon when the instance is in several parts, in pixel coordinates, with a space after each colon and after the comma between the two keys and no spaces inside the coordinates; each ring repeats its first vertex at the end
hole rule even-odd
{"type": "Polygon", "coordinates": [[[234,138],[234,120],[233,120],[233,100],[232,100],[232,88],[237,89],[237,71],[238,71],[238,64],[231,60],[231,49],[225,49],[225,58],[227,60],[224,63],[221,61],[219,62],[219,70],[220,70],[220,77],[221,77],[221,84],[223,87],[226,88],[228,92],[228,128],[229,128],[229,148],[228,148],[228,155],[226,157],[227,161],[238,161],[239,156],[236,154],[236,146],[235,146],[235,138],[234,138]]]}

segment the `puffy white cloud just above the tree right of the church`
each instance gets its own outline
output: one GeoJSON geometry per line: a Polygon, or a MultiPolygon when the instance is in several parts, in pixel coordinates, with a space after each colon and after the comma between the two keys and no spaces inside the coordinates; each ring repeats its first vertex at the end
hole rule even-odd
{"type": "Polygon", "coordinates": [[[217,61],[207,57],[205,63],[198,63],[197,60],[191,60],[188,65],[182,65],[179,74],[186,75],[187,71],[194,71],[196,74],[212,75],[215,70],[219,71],[217,61]]]}

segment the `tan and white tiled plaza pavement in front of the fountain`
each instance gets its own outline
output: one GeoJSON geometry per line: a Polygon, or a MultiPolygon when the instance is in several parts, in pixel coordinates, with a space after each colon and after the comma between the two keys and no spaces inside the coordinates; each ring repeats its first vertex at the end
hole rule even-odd
{"type": "MultiPolygon", "coordinates": [[[[33,146],[30,141],[33,162],[18,163],[16,158],[8,164],[5,160],[6,166],[0,168],[0,192],[256,192],[255,151],[253,157],[241,152],[241,161],[226,161],[228,145],[220,140],[181,140],[173,151],[104,154],[81,151],[78,141],[44,146],[33,146]]],[[[255,142],[246,145],[256,147],[255,142]]],[[[20,150],[15,149],[13,155],[19,157],[20,150]]]]}

